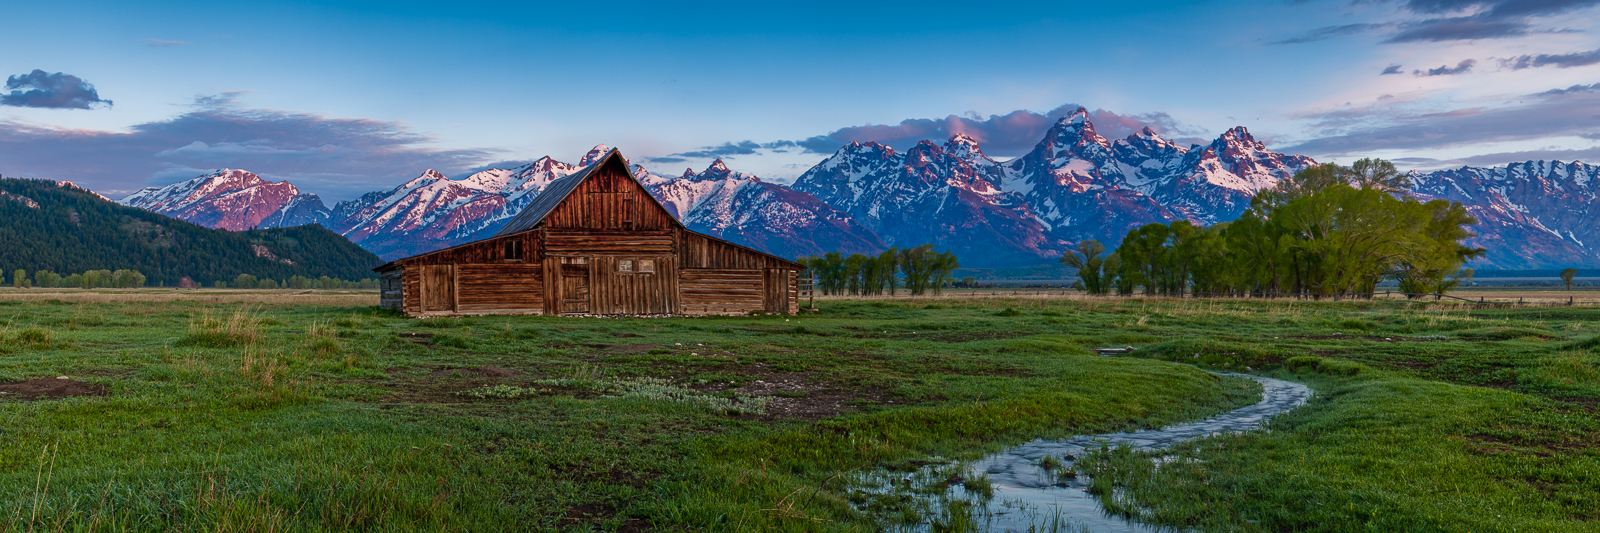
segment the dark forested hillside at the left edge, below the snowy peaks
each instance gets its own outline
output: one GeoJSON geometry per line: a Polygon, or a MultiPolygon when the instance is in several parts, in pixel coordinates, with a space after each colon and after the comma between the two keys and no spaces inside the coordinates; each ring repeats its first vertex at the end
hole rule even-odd
{"type": "Polygon", "coordinates": [[[317,224],[245,232],[208,229],[109,202],[74,186],[0,178],[0,269],[139,271],[149,285],[202,285],[240,274],[270,279],[373,277],[378,256],[317,224]]]}

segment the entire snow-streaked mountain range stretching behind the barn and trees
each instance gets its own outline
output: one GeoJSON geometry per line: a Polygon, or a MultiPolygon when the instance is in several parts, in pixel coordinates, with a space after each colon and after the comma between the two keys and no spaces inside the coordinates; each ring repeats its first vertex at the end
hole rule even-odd
{"type": "MultiPolygon", "coordinates": [[[[307,222],[395,259],[493,235],[550,182],[587,166],[539,158],[462,179],[434,170],[390,190],[333,208],[290,182],[219,170],[122,203],[203,226],[245,230],[307,222]]],[[[1237,218],[1251,197],[1317,165],[1278,154],[1245,128],[1210,144],[1178,146],[1144,128],[1123,139],[1094,131],[1078,109],[1027,154],[995,160],[955,134],[904,154],[851,142],[800,174],[794,186],[733,171],[635,176],[685,226],[781,256],[832,250],[870,253],[934,243],[970,267],[1054,262],[1074,243],[1120,242],[1128,229],[1176,219],[1214,224],[1237,218]]],[[[1600,168],[1526,162],[1506,168],[1411,173],[1414,195],[1467,206],[1480,224],[1472,243],[1488,248],[1480,267],[1600,266],[1600,168]]]]}

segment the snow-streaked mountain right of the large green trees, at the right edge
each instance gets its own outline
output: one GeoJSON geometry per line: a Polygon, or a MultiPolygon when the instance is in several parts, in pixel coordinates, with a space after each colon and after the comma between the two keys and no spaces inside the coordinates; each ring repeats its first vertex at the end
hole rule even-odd
{"type": "Polygon", "coordinates": [[[1411,173],[1419,198],[1461,202],[1478,219],[1478,266],[1600,266],[1600,166],[1523,162],[1411,173]]]}

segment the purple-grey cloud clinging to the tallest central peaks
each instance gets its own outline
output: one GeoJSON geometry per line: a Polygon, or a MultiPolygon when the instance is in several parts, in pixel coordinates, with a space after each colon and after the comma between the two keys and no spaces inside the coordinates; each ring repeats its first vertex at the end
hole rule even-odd
{"type": "MultiPolygon", "coordinates": [[[[1078,107],[1080,106],[1077,104],[1066,104],[1045,114],[1019,109],[1005,115],[989,117],[968,114],[966,117],[949,115],[944,118],[907,118],[896,125],[840,128],[827,134],[792,142],[813,154],[834,154],[840,146],[867,141],[886,144],[896,150],[906,150],[923,139],[942,142],[957,133],[965,133],[973,139],[978,139],[984,154],[994,157],[1016,157],[1032,150],[1034,146],[1038,144],[1038,139],[1045,136],[1045,131],[1050,130],[1058,118],[1072,114],[1078,107]]],[[[1208,142],[1205,139],[1194,138],[1197,134],[1203,134],[1203,131],[1186,126],[1163,112],[1120,115],[1104,109],[1096,109],[1090,112],[1090,122],[1094,123],[1096,131],[1110,139],[1126,138],[1144,126],[1149,126],[1163,136],[1184,136],[1174,138],[1173,141],[1208,142]]]]}

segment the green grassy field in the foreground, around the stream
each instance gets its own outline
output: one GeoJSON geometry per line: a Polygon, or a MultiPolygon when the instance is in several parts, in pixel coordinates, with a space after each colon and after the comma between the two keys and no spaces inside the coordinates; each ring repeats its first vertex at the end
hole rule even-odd
{"type": "Polygon", "coordinates": [[[853,501],[848,472],[1254,402],[1205,370],[1318,395],[1174,467],[1088,458],[1114,507],[1202,530],[1600,530],[1597,309],[965,298],[411,320],[374,301],[0,291],[0,530],[874,531],[907,517],[853,501]]]}

